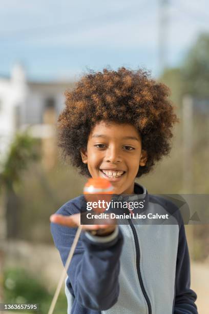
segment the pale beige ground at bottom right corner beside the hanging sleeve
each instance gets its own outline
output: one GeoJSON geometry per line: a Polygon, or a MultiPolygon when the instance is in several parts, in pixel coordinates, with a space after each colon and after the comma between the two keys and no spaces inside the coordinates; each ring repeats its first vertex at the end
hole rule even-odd
{"type": "Polygon", "coordinates": [[[197,293],[199,314],[209,312],[209,264],[191,263],[191,288],[197,293]]]}

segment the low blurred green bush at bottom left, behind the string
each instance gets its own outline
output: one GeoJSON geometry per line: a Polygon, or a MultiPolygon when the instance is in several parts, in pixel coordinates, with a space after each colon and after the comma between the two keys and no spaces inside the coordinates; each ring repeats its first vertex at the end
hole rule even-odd
{"type": "MultiPolygon", "coordinates": [[[[38,274],[37,274],[38,278],[38,274]]],[[[24,269],[12,268],[4,271],[4,302],[38,304],[39,310],[30,313],[46,314],[49,310],[53,295],[47,287],[24,269]]],[[[67,299],[62,292],[58,298],[54,314],[67,312],[67,299]]]]}

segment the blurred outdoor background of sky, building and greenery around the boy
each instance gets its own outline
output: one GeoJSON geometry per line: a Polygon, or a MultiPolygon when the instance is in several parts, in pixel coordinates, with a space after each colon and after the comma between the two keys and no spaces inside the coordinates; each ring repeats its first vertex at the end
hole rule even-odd
{"type": "MultiPolygon", "coordinates": [[[[64,92],[88,69],[143,67],[171,88],[180,119],[171,154],[139,182],[150,193],[209,193],[208,12],[206,0],[1,1],[1,302],[49,309],[62,270],[49,216],[86,182],[60,158],[56,121],[64,92]]],[[[206,314],[209,228],[185,228],[206,314]]],[[[55,313],[66,308],[62,290],[55,313]]]]}

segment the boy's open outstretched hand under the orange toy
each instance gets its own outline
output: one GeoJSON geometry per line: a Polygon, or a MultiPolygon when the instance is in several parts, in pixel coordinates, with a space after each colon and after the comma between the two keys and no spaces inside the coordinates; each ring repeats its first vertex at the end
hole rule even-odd
{"type": "MultiPolygon", "coordinates": [[[[80,226],[80,213],[70,215],[70,216],[53,214],[50,216],[50,221],[55,224],[67,226],[70,228],[75,228],[75,227],[80,226]]],[[[106,222],[106,225],[81,225],[81,226],[82,226],[82,229],[84,230],[103,229],[104,232],[102,232],[102,234],[104,235],[112,233],[116,228],[115,220],[113,219],[108,220],[108,224],[106,222]]]]}

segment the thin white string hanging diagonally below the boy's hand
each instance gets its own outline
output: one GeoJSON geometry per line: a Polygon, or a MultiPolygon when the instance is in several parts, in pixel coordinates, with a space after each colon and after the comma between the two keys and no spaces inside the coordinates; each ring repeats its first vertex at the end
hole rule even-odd
{"type": "Polygon", "coordinates": [[[68,258],[67,258],[67,261],[66,261],[66,264],[65,264],[65,267],[64,269],[62,270],[62,273],[61,273],[61,277],[59,279],[59,282],[58,282],[58,285],[57,285],[57,288],[56,288],[56,291],[54,293],[54,297],[52,299],[52,303],[50,305],[50,308],[49,308],[49,312],[48,314],[52,314],[53,311],[54,311],[54,308],[55,308],[55,305],[56,305],[56,302],[57,302],[57,299],[58,299],[58,296],[59,296],[59,292],[61,290],[61,286],[62,286],[62,282],[65,280],[65,277],[66,277],[66,273],[68,271],[68,267],[70,265],[70,262],[72,260],[72,257],[73,257],[73,253],[75,251],[75,247],[77,245],[77,242],[78,242],[78,239],[79,239],[79,236],[80,236],[80,232],[82,231],[82,225],[79,225],[77,231],[76,231],[76,234],[75,234],[75,238],[73,240],[73,244],[71,246],[71,249],[70,249],[70,252],[69,252],[69,255],[68,255],[68,258]]]}

